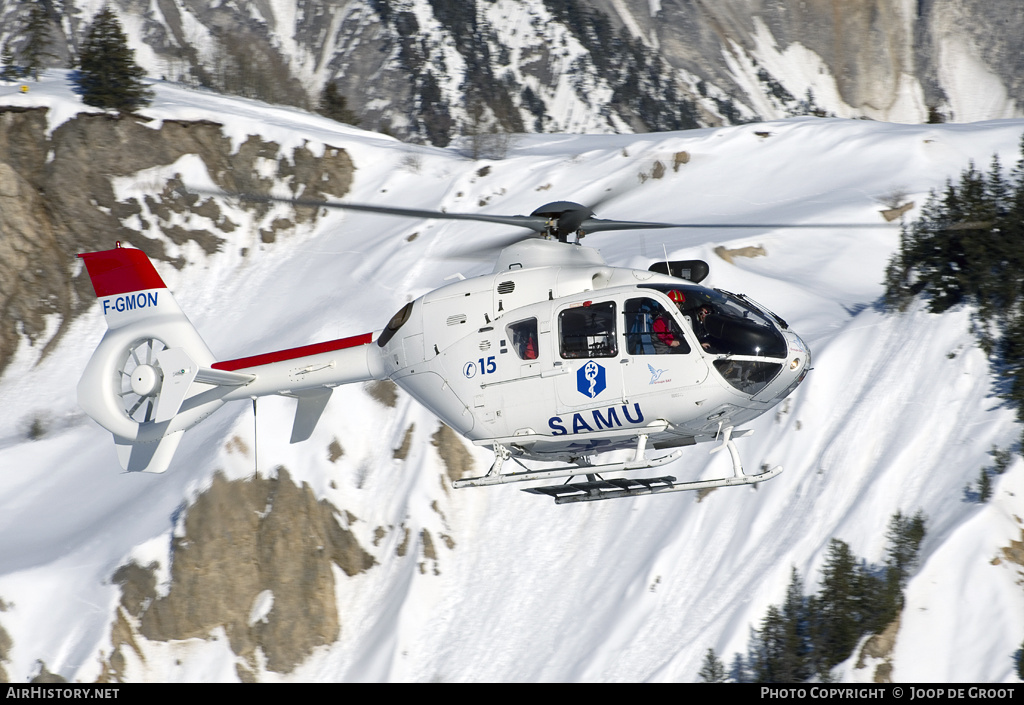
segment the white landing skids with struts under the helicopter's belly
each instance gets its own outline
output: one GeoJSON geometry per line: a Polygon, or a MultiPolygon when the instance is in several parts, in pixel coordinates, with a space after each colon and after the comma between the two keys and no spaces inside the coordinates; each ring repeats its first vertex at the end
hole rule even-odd
{"type": "MultiPolygon", "coordinates": [[[[750,431],[740,431],[736,437],[746,436],[750,431]]],[[[547,480],[550,478],[569,478],[586,474],[588,482],[569,483],[563,485],[549,485],[545,487],[531,487],[524,489],[539,495],[548,495],[555,499],[555,504],[568,504],[571,502],[593,502],[601,499],[617,499],[620,497],[637,497],[640,495],[662,494],[665,492],[686,492],[690,490],[706,490],[714,487],[733,487],[735,485],[755,485],[771,480],[782,471],[781,465],[776,465],[770,470],[759,474],[746,474],[743,472],[742,464],[739,460],[739,451],[732,440],[733,429],[731,426],[722,431],[722,445],[713,448],[712,453],[728,450],[732,459],[732,476],[719,478],[716,480],[698,480],[689,483],[677,483],[672,475],[664,478],[616,478],[605,480],[600,476],[601,472],[616,472],[621,470],[639,470],[648,467],[657,467],[676,460],[682,451],[675,451],[658,458],[644,457],[647,446],[647,436],[641,434],[637,439],[637,449],[633,460],[618,463],[605,463],[601,465],[569,465],[556,467],[548,470],[525,470],[522,472],[502,472],[501,468],[505,460],[511,457],[507,448],[500,444],[495,444],[495,463],[485,475],[479,478],[466,478],[453,483],[455,488],[463,487],[485,487],[489,485],[504,485],[507,483],[521,483],[530,480],[547,480]]],[[[518,462],[518,461],[516,461],[518,462]]],[[[521,463],[520,463],[521,465],[521,463]]]]}

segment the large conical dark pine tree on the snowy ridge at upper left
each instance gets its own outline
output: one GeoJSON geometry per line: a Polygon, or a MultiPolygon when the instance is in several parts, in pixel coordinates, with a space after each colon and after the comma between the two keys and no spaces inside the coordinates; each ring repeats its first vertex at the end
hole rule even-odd
{"type": "Polygon", "coordinates": [[[133,112],[150,105],[153,92],[142,83],[145,72],[114,12],[96,13],[79,52],[78,87],[87,106],[133,112]]]}

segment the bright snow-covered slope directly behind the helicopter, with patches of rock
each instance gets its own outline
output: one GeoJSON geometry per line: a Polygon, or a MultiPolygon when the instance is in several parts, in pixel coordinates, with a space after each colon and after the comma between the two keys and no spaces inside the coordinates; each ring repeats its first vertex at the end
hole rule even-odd
{"type": "MultiPolygon", "coordinates": [[[[346,199],[450,211],[526,213],[571,199],[601,201],[608,218],[874,222],[894,194],[920,207],[969,160],[1014,163],[1024,132],[1024,120],[801,118],[523,135],[505,159],[481,162],[298,110],[155,90],[148,129],[212,121],[232,152],[250,135],[276,144],[258,164],[283,194],[292,177],[280,165],[296,149],[335,148],[353,166],[346,199]]],[[[50,130],[82,109],[53,73],[27,93],[0,85],[0,106],[45,107],[50,130]]],[[[99,159],[115,148],[93,149],[99,159]]],[[[144,204],[122,224],[160,240],[161,276],[221,358],[380,329],[446,277],[488,272],[489,258],[465,258],[467,240],[505,234],[339,212],[300,222],[283,205],[258,220],[225,204],[238,226],[218,231],[223,242],[208,252],[172,237],[198,220],[144,201],[176,174],[212,180],[185,155],[113,179],[115,203],[144,204]],[[276,218],[291,224],[264,237],[259,223],[276,218]]],[[[0,628],[11,642],[0,666],[13,681],[43,665],[73,680],[693,680],[709,648],[726,661],[745,652],[792,567],[813,589],[831,537],[880,563],[889,517],[922,509],[928,536],[895,646],[863,667],[851,658],[837,676],[870,681],[885,661],[896,681],[1013,680],[1024,463],[995,479],[986,504],[965,501],[964,488],[1019,427],[993,393],[969,312],[877,307],[897,238],[895,229],[588,238],[611,264],[708,260],[712,285],[779,313],[814,351],[800,389],[738,442],[749,466],[779,463],[782,474],[703,497],[556,506],[514,487],[452,490],[450,476],[470,463],[484,470],[489,452],[378,385],[339,388],[297,445],[290,400],[261,401],[255,427],[252,407],[226,407],[188,431],[167,473],[127,474],[75,400],[102,334],[98,307],[45,356],[23,338],[0,378],[0,628]],[[730,263],[720,246],[765,254],[730,263]]],[[[80,266],[73,254],[69,275],[80,266]]],[[[697,479],[722,463],[694,448],[665,471],[697,479]]]]}

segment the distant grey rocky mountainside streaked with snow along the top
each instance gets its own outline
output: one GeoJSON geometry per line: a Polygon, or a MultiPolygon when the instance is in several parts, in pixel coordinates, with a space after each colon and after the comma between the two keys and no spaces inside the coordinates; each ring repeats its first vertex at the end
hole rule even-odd
{"type": "MultiPolygon", "coordinates": [[[[44,1],[54,66],[112,7],[154,78],[315,107],[446,146],[466,134],[648,132],[793,115],[1022,116],[1016,0],[44,1]]],[[[25,6],[0,3],[17,49],[25,6]]]]}

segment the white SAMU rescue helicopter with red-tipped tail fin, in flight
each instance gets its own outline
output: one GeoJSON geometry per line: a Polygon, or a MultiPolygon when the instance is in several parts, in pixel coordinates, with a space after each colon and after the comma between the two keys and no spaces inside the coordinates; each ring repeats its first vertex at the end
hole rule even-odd
{"type": "Polygon", "coordinates": [[[494,450],[489,470],[456,488],[566,478],[526,490],[566,503],[749,485],[781,472],[746,474],[734,440],[753,432],[737,427],[792,393],[811,369],[800,336],[746,296],[700,286],[703,261],[609,266],[580,240],[612,230],[793,225],[602,220],[565,201],[506,216],[242,198],[534,234],[503,249],[492,274],[406,304],[381,331],[219,361],[140,250],[119,243],[80,254],[108,331],[79,382],[79,404],[114,434],[126,470],[166,470],[183,432],[227,402],[294,397],[296,443],[310,437],[334,387],[390,379],[494,450]],[[665,465],[684,447],[713,442],[713,453],[728,450],[730,476],[604,476],[665,465]],[[668,452],[648,457],[660,450],[668,452]],[[629,459],[602,460],[610,451],[629,459]],[[508,471],[510,459],[518,467],[508,471]],[[522,460],[561,465],[537,469],[522,460]]]}

